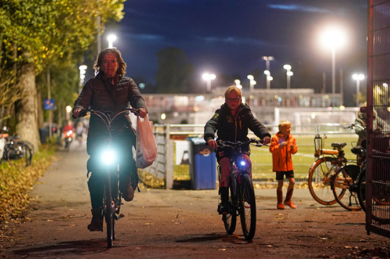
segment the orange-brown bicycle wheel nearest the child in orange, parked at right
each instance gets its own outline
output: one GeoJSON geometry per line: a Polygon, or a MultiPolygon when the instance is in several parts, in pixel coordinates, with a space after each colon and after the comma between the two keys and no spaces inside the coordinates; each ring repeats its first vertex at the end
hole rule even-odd
{"type": "Polygon", "coordinates": [[[331,176],[335,173],[337,164],[337,158],[323,157],[314,162],[309,169],[309,191],[314,200],[320,204],[336,203],[331,189],[331,176]]]}

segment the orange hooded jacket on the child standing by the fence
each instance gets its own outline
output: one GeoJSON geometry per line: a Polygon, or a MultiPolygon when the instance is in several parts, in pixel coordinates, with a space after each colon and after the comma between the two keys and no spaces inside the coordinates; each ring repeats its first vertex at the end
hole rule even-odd
{"type": "Polygon", "coordinates": [[[289,135],[287,139],[284,139],[283,135],[278,132],[272,137],[270,144],[270,152],[272,153],[272,170],[277,171],[290,171],[294,170],[293,161],[291,161],[291,155],[298,152],[297,140],[293,135],[289,135]],[[290,145],[281,146],[283,141],[293,143],[293,150],[290,149],[290,145]]]}

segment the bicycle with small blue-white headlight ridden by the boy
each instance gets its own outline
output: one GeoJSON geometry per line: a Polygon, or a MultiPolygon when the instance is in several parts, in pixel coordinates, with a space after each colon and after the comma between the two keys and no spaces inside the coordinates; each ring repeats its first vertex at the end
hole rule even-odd
{"type": "MultiPolygon", "coordinates": [[[[263,146],[263,140],[251,138],[248,141],[218,141],[218,146],[223,149],[231,149],[233,158],[231,159],[231,173],[229,175],[229,204],[230,209],[222,214],[222,221],[228,234],[233,234],[236,230],[237,216],[240,216],[241,228],[246,240],[254,237],[256,230],[256,202],[252,183],[252,172],[242,159],[242,147],[249,144],[263,146]]],[[[218,166],[218,177],[221,172],[218,166]]]]}

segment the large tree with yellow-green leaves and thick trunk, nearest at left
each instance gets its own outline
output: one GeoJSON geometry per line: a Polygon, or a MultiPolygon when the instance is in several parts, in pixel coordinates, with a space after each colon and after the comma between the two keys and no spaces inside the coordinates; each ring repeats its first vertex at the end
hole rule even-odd
{"type": "Polygon", "coordinates": [[[36,75],[56,62],[74,59],[95,41],[108,18],[121,19],[125,0],[0,0],[0,64],[15,72],[16,130],[35,145],[38,134],[36,75]]]}

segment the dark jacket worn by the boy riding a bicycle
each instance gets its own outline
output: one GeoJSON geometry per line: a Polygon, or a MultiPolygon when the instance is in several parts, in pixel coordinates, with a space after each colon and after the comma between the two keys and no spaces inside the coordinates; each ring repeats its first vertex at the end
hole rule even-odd
{"type": "Polygon", "coordinates": [[[259,138],[271,137],[267,128],[253,117],[248,105],[241,103],[236,117],[233,117],[228,105],[224,103],[206,123],[204,138],[206,141],[214,138],[216,132],[218,140],[246,141],[249,139],[248,128],[259,138]]]}

